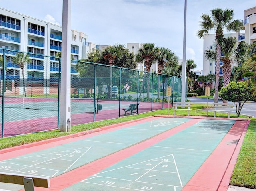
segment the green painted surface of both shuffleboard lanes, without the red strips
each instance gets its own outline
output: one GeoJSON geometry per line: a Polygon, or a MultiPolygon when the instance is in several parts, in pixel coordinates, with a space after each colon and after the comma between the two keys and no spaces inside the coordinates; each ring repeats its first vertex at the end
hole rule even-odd
{"type": "MultiPolygon", "coordinates": [[[[193,119],[142,120],[140,124],[131,124],[108,133],[6,159],[0,162],[0,170],[56,177],[120,150],[136,147],[141,142],[175,130],[175,127],[191,120],[193,119]]],[[[198,121],[99,173],[72,183],[64,191],[182,190],[235,122],[207,119],[198,121]]],[[[54,185],[51,184],[51,187],[54,185]]],[[[1,183],[1,189],[10,190],[10,184],[1,183]]],[[[22,185],[12,185],[13,191],[19,189],[22,189],[22,185]]]]}

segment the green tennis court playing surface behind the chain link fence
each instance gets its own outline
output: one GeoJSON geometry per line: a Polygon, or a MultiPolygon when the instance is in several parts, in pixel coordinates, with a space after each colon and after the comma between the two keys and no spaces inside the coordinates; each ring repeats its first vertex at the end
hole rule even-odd
{"type": "MultiPolygon", "coordinates": [[[[101,110],[118,109],[117,103],[100,103],[101,110]]],[[[97,103],[96,103],[97,105],[97,103]]],[[[54,117],[58,115],[58,98],[36,98],[5,96],[5,122],[29,120],[37,118],[54,117]]],[[[120,108],[128,108],[129,104],[120,104],[120,108]]],[[[94,112],[94,99],[72,98],[71,113],[92,113],[94,112]]],[[[97,112],[97,109],[95,110],[97,112]]]]}

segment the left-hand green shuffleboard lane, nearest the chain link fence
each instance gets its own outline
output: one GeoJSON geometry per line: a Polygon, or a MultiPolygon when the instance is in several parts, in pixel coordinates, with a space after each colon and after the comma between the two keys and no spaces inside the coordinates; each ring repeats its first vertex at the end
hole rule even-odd
{"type": "Polygon", "coordinates": [[[170,130],[190,119],[160,118],[0,161],[2,172],[55,177],[170,130]]]}

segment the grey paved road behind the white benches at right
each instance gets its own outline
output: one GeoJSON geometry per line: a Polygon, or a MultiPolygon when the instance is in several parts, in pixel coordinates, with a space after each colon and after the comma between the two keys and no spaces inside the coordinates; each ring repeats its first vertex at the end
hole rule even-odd
{"type": "MultiPolygon", "coordinates": [[[[193,103],[200,103],[200,104],[207,104],[207,99],[206,98],[188,98],[191,102],[193,103]]],[[[214,102],[214,99],[208,99],[208,104],[211,104],[214,102]]],[[[218,101],[222,102],[222,101],[218,101]]],[[[232,114],[236,114],[236,106],[234,104],[234,108],[232,108],[232,114]]],[[[256,118],[256,102],[246,102],[244,106],[242,107],[241,110],[241,115],[246,115],[246,116],[253,116],[256,118]]]]}

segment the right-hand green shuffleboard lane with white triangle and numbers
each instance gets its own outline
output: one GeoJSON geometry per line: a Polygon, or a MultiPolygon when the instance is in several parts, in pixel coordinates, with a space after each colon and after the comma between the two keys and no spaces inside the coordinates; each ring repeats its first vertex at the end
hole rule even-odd
{"type": "Polygon", "coordinates": [[[181,191],[233,124],[202,120],[64,191],[181,191]]]}

